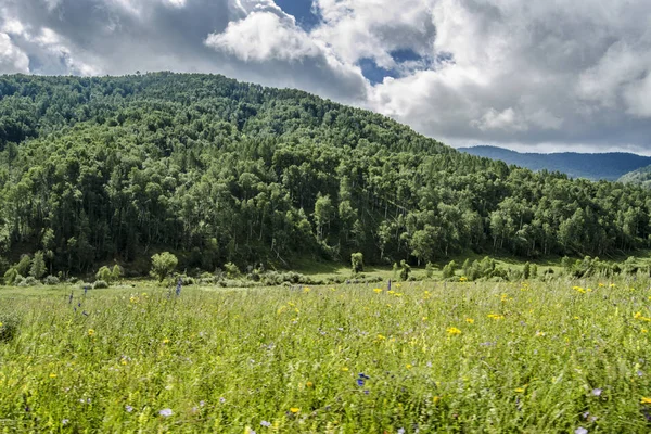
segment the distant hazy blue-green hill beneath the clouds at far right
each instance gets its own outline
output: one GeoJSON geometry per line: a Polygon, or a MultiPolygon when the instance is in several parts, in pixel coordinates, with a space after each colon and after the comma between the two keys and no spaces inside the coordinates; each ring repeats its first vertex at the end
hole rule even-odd
{"type": "Polygon", "coordinates": [[[572,178],[616,181],[621,176],[651,165],[651,157],[624,152],[580,154],[562,152],[551,154],[520,153],[496,146],[460,148],[460,152],[501,159],[511,165],[532,170],[549,170],[566,174],[572,178]]]}

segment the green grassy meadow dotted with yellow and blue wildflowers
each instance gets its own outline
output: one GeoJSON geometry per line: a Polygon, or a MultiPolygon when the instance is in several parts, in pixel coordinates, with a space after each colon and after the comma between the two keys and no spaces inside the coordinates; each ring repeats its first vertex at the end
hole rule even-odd
{"type": "Polygon", "coordinates": [[[0,289],[0,432],[647,433],[650,296],[641,279],[0,289]]]}

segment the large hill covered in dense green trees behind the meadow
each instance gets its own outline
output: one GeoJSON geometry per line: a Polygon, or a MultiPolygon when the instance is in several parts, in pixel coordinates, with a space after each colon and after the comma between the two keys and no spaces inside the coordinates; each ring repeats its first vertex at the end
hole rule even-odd
{"type": "MultiPolygon", "coordinates": [[[[0,248],[90,271],[412,263],[648,246],[651,194],[459,153],[386,117],[221,76],[0,77],[0,248]]],[[[5,264],[7,266],[7,264],[5,264]]]]}

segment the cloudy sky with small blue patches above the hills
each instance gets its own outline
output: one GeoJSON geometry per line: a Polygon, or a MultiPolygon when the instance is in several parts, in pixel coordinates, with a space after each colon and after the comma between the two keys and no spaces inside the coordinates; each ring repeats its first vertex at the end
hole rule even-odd
{"type": "Polygon", "coordinates": [[[218,73],[454,146],[651,155],[649,0],[0,0],[0,74],[218,73]]]}

